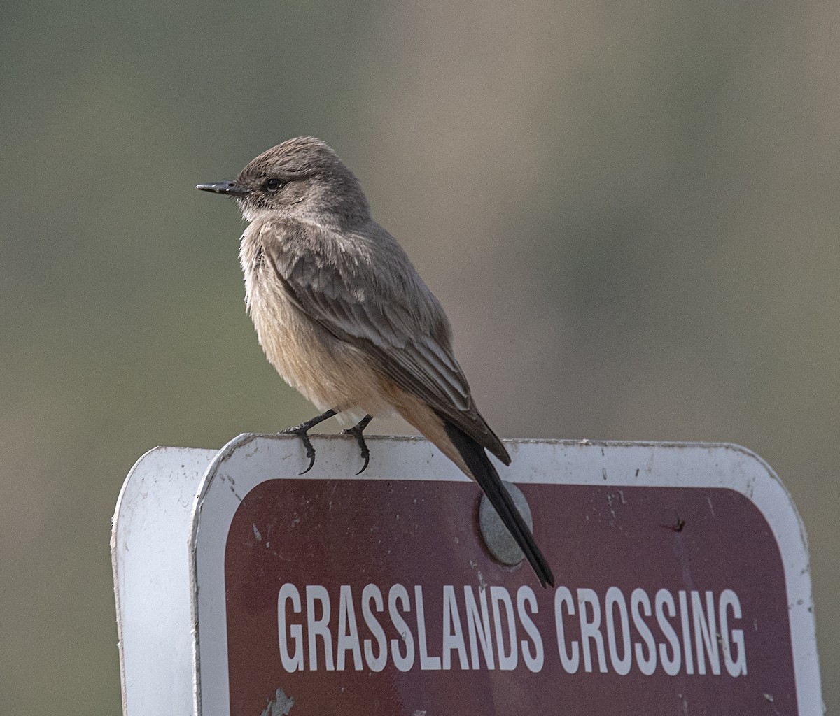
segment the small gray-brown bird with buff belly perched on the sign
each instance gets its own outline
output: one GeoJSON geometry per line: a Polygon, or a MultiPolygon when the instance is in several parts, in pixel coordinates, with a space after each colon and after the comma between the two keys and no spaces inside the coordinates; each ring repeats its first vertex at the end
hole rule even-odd
{"type": "Polygon", "coordinates": [[[196,188],[234,196],[250,222],[239,259],[260,344],[282,378],[325,410],[285,431],[301,437],[309,468],[312,426],[338,413],[359,421],[346,432],[367,467],[362,431],[371,416],[396,410],[475,479],[540,583],[554,585],[485,452],[511,463],[475,407],[444,309],[370,216],[359,180],[333,150],[316,138],[289,139],[235,180],[196,188]]]}

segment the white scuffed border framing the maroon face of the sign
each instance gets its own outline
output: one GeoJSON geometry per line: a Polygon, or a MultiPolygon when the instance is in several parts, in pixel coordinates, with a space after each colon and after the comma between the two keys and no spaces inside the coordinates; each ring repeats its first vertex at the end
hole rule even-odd
{"type": "MultiPolygon", "coordinates": [[[[234,514],[251,489],[276,478],[468,479],[423,438],[370,436],[368,443],[374,457],[359,476],[354,475],[353,469],[360,462],[354,438],[318,436],[312,442],[318,459],[306,475],[300,474],[307,465],[300,442],[296,436],[285,435],[239,435],[218,452],[207,468],[193,504],[189,544],[197,716],[230,716],[224,551],[234,514]],[[248,470],[239,470],[245,460],[249,461],[248,470]],[[202,521],[207,525],[203,530],[202,521]]],[[[825,712],[805,526],[785,485],[761,457],[729,443],[504,442],[513,467],[500,470],[501,477],[514,483],[722,488],[747,497],[773,530],[784,564],[799,713],[825,712]],[[592,452],[597,454],[599,450],[600,459],[593,460],[592,452]],[[551,472],[547,473],[549,465],[551,472]]]]}

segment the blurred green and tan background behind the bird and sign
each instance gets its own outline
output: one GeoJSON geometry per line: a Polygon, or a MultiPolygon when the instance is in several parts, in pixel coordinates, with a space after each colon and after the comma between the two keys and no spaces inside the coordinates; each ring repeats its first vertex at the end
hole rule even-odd
{"type": "Polygon", "coordinates": [[[360,176],[502,436],[731,441],[774,466],[840,704],[840,5],[3,16],[4,713],[119,712],[108,536],[143,452],[312,415],[244,313],[233,202],[193,189],[298,134],[360,176]]]}

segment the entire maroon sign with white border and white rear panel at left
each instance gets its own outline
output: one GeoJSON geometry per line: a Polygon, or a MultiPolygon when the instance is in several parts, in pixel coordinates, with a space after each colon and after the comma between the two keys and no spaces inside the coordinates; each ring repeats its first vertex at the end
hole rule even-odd
{"type": "Polygon", "coordinates": [[[314,443],[306,475],[252,435],[129,473],[127,716],[822,713],[805,530],[753,453],[507,442],[543,589],[429,442],[371,437],[359,476],[352,438],[314,443]]]}

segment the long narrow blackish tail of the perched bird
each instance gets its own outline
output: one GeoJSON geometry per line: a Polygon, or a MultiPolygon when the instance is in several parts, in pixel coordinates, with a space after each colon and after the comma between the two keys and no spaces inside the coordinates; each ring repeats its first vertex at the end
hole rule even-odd
{"type": "Polygon", "coordinates": [[[519,510],[513,504],[510,494],[507,494],[507,489],[501,483],[499,473],[496,473],[496,468],[493,467],[493,463],[490,462],[484,448],[458,426],[454,426],[445,418],[443,420],[449,440],[452,441],[460,456],[464,458],[464,462],[467,464],[467,468],[470,468],[470,473],[475,478],[475,482],[484,490],[487,499],[496,509],[513,539],[517,541],[519,548],[525,553],[525,557],[528,557],[528,562],[531,563],[533,571],[537,573],[540,583],[543,587],[546,584],[554,587],[554,574],[551,573],[549,563],[546,562],[543,553],[539,551],[537,543],[533,541],[531,530],[528,529],[528,525],[525,524],[519,510]]]}

